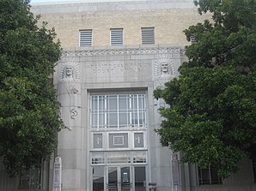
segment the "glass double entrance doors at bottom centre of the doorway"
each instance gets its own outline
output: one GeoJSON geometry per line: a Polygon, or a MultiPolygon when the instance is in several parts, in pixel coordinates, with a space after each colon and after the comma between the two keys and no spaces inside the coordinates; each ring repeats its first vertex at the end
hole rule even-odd
{"type": "Polygon", "coordinates": [[[107,167],[108,191],[131,191],[131,167],[109,166],[107,167]]]}

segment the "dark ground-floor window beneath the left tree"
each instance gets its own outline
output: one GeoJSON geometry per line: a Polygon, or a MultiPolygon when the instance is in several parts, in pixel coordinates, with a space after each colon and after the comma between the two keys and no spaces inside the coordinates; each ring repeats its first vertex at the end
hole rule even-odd
{"type": "Polygon", "coordinates": [[[31,168],[20,177],[20,189],[40,189],[41,170],[31,168]]]}

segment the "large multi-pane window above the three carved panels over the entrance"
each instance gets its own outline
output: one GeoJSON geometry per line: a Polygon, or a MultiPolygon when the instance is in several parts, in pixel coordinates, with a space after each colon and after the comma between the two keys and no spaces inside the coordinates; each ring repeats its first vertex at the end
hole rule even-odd
{"type": "Polygon", "coordinates": [[[133,128],[145,125],[145,94],[91,96],[91,128],[133,128]]]}

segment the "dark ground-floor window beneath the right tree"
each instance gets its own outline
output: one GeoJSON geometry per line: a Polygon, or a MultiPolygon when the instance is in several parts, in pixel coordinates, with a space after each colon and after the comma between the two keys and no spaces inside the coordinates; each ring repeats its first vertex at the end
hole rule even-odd
{"type": "Polygon", "coordinates": [[[205,169],[198,167],[198,181],[199,185],[222,184],[221,177],[210,166],[205,169]]]}

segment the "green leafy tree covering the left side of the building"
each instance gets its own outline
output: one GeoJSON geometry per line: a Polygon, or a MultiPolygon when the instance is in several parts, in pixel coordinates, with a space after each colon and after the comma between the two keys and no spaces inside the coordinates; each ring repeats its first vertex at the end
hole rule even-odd
{"type": "Polygon", "coordinates": [[[0,0],[0,159],[10,176],[49,158],[63,124],[49,79],[61,47],[38,20],[29,1],[0,0]]]}

